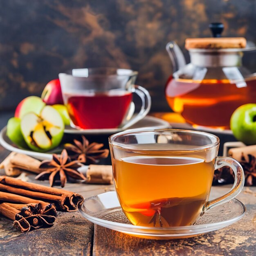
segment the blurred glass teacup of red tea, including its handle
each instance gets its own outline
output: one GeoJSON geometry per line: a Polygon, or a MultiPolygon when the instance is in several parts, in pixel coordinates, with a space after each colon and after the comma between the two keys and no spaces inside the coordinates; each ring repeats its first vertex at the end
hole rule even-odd
{"type": "Polygon", "coordinates": [[[151,106],[148,91],[135,85],[137,72],[116,68],[74,69],[59,74],[63,100],[71,126],[81,129],[124,129],[147,115],[151,106]],[[132,93],[141,98],[141,110],[133,116],[132,93]]]}

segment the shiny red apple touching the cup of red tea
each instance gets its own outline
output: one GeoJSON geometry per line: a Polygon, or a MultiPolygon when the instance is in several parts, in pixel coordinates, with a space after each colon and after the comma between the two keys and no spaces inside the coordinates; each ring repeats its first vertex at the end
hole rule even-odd
{"type": "Polygon", "coordinates": [[[45,85],[41,98],[47,105],[63,104],[60,80],[54,79],[49,81],[45,85]]]}

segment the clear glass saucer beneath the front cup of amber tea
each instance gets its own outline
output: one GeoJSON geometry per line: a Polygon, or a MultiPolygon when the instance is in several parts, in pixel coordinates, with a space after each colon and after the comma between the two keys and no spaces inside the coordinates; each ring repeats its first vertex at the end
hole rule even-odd
{"type": "Polygon", "coordinates": [[[215,207],[192,226],[184,227],[141,227],[130,223],[124,214],[115,191],[106,192],[79,203],[80,213],[91,222],[131,236],[148,239],[179,239],[198,236],[227,227],[245,216],[245,205],[237,199],[215,207]]]}

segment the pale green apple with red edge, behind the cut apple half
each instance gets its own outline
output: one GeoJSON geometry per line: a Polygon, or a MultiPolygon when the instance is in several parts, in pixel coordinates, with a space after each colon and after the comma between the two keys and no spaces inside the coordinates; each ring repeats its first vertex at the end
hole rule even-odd
{"type": "Polygon", "coordinates": [[[45,103],[40,97],[29,96],[18,104],[14,117],[22,118],[29,112],[34,112],[37,115],[40,114],[41,110],[44,108],[45,103]]]}

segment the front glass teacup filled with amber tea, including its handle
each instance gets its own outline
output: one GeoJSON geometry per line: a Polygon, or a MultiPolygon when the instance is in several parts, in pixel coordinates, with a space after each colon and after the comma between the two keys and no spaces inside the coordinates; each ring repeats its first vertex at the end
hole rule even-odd
{"type": "Polygon", "coordinates": [[[109,138],[117,196],[133,225],[193,225],[205,211],[234,198],[244,173],[231,157],[217,157],[219,139],[189,130],[128,130],[109,138]],[[214,170],[229,166],[234,186],[209,201],[214,170]]]}

